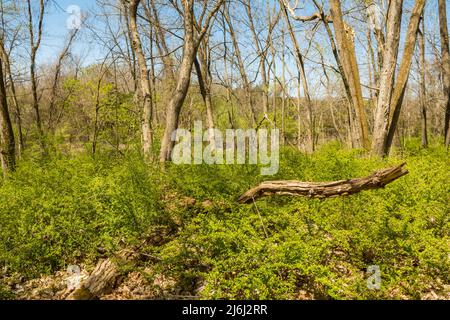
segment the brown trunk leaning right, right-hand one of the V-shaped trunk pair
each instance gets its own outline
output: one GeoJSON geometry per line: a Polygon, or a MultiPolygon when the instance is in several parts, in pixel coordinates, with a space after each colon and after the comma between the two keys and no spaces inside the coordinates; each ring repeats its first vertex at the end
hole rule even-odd
{"type": "Polygon", "coordinates": [[[414,9],[411,12],[408,29],[406,31],[405,47],[403,49],[403,57],[398,70],[397,80],[392,93],[392,100],[390,103],[390,124],[386,136],[386,143],[383,146],[382,155],[389,154],[389,150],[394,139],[394,133],[397,128],[398,119],[400,117],[400,110],[405,95],[406,84],[408,82],[409,70],[411,69],[412,58],[414,55],[414,48],[416,46],[417,33],[419,30],[420,17],[422,16],[425,7],[425,0],[416,0],[414,9]]]}

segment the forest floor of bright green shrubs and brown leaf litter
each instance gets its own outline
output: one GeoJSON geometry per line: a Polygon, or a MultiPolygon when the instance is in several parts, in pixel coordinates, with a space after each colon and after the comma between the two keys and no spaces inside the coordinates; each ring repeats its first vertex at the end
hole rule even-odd
{"type": "Polygon", "coordinates": [[[70,266],[84,279],[138,248],[100,299],[450,299],[449,165],[447,150],[417,140],[383,160],[337,144],[286,148],[271,177],[250,165],[162,172],[133,155],[30,156],[0,181],[0,298],[63,299],[70,266]],[[409,174],[383,189],[236,202],[268,179],[356,178],[403,161],[409,174]]]}

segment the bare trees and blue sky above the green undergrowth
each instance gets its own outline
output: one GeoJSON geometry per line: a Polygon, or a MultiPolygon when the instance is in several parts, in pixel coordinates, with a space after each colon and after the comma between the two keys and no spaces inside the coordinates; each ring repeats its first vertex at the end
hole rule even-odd
{"type": "Polygon", "coordinates": [[[58,144],[137,143],[170,161],[172,132],[195,120],[279,128],[304,152],[339,140],[385,156],[412,136],[448,146],[446,5],[97,0],[66,12],[2,0],[3,171],[58,144]]]}

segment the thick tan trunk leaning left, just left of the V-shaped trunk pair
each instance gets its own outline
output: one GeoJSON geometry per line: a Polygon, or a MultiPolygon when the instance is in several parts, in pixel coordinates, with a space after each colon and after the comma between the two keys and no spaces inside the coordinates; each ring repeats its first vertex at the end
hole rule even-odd
{"type": "Polygon", "coordinates": [[[366,113],[364,111],[364,101],[362,98],[359,70],[353,44],[353,30],[350,30],[342,18],[341,4],[339,0],[330,0],[330,12],[333,19],[336,42],[338,44],[340,57],[343,61],[344,71],[350,85],[353,105],[355,107],[356,117],[359,123],[361,143],[365,149],[369,150],[369,126],[366,119],[366,113]]]}

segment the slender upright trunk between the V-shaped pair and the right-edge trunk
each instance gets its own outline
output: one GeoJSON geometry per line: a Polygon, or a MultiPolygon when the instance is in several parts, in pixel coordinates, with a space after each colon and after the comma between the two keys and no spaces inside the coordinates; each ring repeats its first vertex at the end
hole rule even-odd
{"type": "Polygon", "coordinates": [[[428,146],[428,129],[427,129],[427,93],[425,85],[425,23],[424,15],[422,15],[422,30],[419,31],[419,60],[420,60],[420,111],[422,120],[422,147],[428,146]]]}

